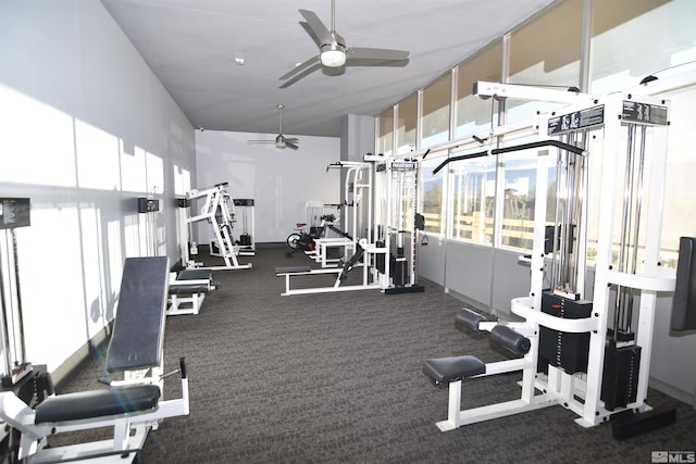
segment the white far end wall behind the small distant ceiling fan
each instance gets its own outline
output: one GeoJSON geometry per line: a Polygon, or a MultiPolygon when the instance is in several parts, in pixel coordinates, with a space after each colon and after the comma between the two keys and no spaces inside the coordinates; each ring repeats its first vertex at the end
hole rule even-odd
{"type": "MultiPolygon", "coordinates": [[[[226,181],[233,198],[253,199],[257,243],[285,242],[295,224],[304,222],[307,201],[338,203],[340,198],[337,170],[326,172],[340,158],[340,139],[286,136],[300,139],[299,150],[247,142],[273,140],[275,134],[196,133],[196,187],[226,181]]],[[[199,242],[209,238],[209,227],[199,225],[199,242]]]]}

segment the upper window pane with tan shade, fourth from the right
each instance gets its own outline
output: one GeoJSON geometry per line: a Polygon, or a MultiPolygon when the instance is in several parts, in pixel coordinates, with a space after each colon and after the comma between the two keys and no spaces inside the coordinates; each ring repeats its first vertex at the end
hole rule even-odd
{"type": "Polygon", "coordinates": [[[423,141],[421,148],[449,140],[451,74],[447,73],[423,90],[423,141]]]}

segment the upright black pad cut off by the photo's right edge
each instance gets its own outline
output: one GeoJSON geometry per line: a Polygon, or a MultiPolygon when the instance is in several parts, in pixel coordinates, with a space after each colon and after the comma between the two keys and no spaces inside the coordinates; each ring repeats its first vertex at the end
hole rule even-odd
{"type": "Polygon", "coordinates": [[[696,237],[679,239],[676,286],[670,328],[675,331],[696,329],[696,237]]]}

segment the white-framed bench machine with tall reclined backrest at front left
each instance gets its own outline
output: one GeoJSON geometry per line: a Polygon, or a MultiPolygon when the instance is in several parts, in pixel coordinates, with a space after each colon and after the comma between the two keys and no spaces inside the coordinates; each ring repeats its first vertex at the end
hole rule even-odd
{"type": "Polygon", "coordinates": [[[50,396],[32,405],[13,391],[0,392],[0,418],[20,434],[18,460],[130,462],[160,421],[188,415],[184,359],[179,360],[177,371],[163,373],[167,274],[167,258],[125,261],[119,310],[105,358],[107,371],[123,374],[123,379],[103,379],[100,381],[109,388],[50,396]],[[177,372],[182,377],[182,398],[163,400],[163,380],[177,372]],[[113,438],[47,447],[51,435],[100,427],[113,427],[113,438]]]}

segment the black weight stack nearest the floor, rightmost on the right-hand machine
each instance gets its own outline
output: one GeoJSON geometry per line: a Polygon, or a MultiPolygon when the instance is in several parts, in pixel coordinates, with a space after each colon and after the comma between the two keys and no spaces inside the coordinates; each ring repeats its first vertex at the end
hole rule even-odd
{"type": "Polygon", "coordinates": [[[613,411],[635,402],[639,366],[641,347],[617,347],[613,341],[607,343],[600,396],[607,410],[613,411]]]}

